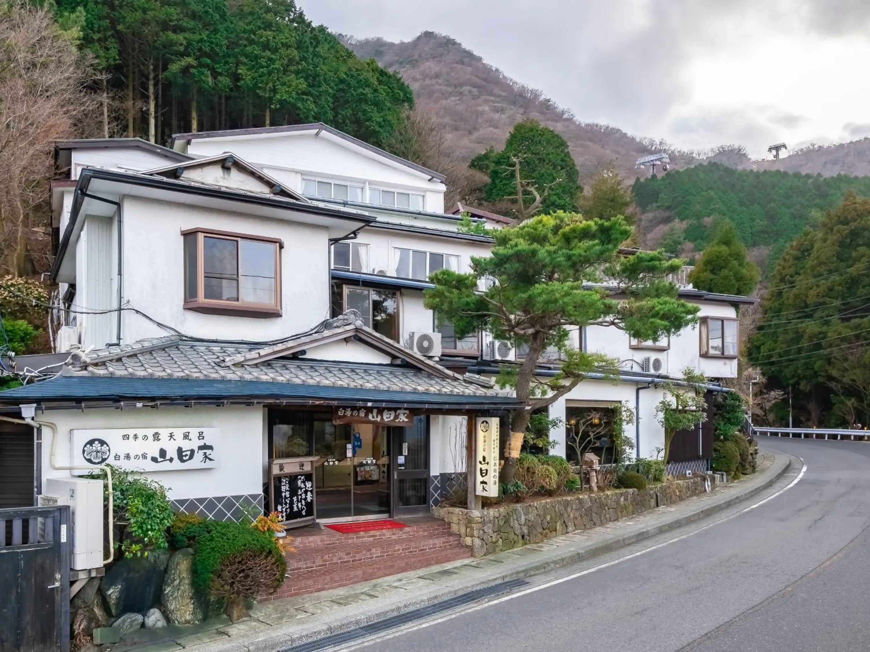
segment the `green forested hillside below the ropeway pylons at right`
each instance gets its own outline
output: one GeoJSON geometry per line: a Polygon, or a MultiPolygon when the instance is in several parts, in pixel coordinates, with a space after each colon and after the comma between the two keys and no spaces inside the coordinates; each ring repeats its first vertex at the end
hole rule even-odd
{"type": "Polygon", "coordinates": [[[737,227],[740,240],[760,250],[760,262],[765,262],[768,256],[771,261],[778,259],[786,244],[806,225],[818,223],[849,189],[870,196],[870,176],[756,172],[706,163],[638,180],[633,196],[646,213],[642,223],[649,227],[656,218],[661,222],[657,230],[647,228],[647,245],[684,254],[703,249],[713,220],[727,218],[737,227]],[[653,218],[655,211],[665,212],[653,218]]]}

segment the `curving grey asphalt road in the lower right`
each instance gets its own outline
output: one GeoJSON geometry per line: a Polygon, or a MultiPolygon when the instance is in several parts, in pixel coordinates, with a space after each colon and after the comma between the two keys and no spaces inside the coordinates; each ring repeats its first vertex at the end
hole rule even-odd
{"type": "Polygon", "coordinates": [[[761,441],[802,457],[806,474],[758,508],[740,513],[792,482],[797,469],[730,515],[713,517],[728,520],[539,575],[532,580],[539,590],[358,649],[870,649],[870,443],[761,441]],[[615,563],[548,583],[607,562],[615,563]]]}

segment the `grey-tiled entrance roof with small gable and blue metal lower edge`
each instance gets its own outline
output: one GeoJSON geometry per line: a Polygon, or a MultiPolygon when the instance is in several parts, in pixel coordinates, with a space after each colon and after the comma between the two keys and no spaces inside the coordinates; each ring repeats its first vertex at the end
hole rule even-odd
{"type": "Polygon", "coordinates": [[[492,380],[456,374],[365,328],[356,319],[358,314],[349,311],[325,323],[321,332],[270,346],[167,336],[93,352],[75,351],[60,376],[0,393],[0,403],[107,396],[307,397],[345,402],[405,401],[433,407],[516,403],[493,389],[492,380]],[[316,358],[315,347],[338,340],[377,349],[392,363],[316,358]],[[311,349],[315,349],[315,356],[304,357],[311,349]]]}

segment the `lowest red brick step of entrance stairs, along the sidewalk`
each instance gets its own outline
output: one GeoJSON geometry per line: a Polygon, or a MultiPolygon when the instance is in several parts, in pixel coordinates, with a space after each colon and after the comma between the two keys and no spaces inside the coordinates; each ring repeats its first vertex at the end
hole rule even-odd
{"type": "Polygon", "coordinates": [[[290,595],[338,589],[357,582],[368,582],[380,577],[405,573],[409,570],[425,569],[439,563],[470,559],[471,556],[472,549],[460,545],[458,548],[427,550],[418,555],[396,555],[380,560],[343,563],[332,569],[288,569],[290,578],[284,582],[284,585],[274,595],[264,596],[261,600],[278,600],[290,595]]]}

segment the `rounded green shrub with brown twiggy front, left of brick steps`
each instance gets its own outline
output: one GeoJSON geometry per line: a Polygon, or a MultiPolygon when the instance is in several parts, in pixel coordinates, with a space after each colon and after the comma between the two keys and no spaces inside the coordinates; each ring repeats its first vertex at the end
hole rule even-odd
{"type": "MultiPolygon", "coordinates": [[[[262,569],[263,560],[271,561],[273,573],[263,582],[260,592],[274,591],[284,582],[287,562],[284,553],[271,534],[260,532],[249,525],[229,521],[203,521],[191,523],[173,536],[177,548],[193,547],[193,579],[197,587],[212,593],[220,584],[221,595],[225,590],[227,567],[238,567],[240,559],[257,560],[262,569]]],[[[241,595],[240,597],[251,597],[241,595]]]]}

